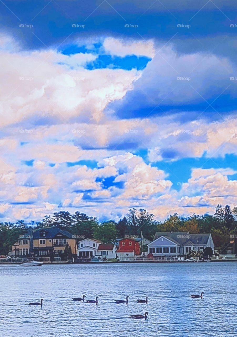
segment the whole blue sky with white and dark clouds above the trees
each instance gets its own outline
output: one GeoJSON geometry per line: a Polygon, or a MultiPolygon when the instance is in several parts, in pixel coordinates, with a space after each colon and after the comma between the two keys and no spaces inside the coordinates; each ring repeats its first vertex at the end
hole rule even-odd
{"type": "Polygon", "coordinates": [[[237,206],[236,9],[0,1],[0,221],[237,206]]]}

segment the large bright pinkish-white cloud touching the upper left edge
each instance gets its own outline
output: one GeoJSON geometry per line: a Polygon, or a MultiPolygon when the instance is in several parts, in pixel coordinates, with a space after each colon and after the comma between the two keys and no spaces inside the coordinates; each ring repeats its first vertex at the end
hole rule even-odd
{"type": "Polygon", "coordinates": [[[108,103],[123,98],[140,75],[135,69],[83,67],[96,57],[82,53],[63,55],[55,50],[4,50],[0,56],[0,75],[5,81],[0,96],[1,124],[19,123],[38,115],[62,121],[79,116],[98,122],[108,103]]]}

